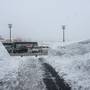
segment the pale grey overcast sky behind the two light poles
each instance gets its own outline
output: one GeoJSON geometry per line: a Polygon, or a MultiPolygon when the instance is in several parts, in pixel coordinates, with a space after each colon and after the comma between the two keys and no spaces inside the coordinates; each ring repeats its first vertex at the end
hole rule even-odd
{"type": "Polygon", "coordinates": [[[0,35],[32,40],[68,41],[90,38],[90,0],[0,0],[0,35]]]}

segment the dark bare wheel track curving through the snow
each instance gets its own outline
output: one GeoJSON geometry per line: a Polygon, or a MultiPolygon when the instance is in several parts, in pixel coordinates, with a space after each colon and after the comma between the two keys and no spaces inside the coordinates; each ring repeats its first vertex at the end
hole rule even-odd
{"type": "Polygon", "coordinates": [[[47,90],[71,90],[71,87],[58,75],[51,65],[45,63],[42,58],[39,58],[39,60],[45,72],[43,81],[47,90]]]}

